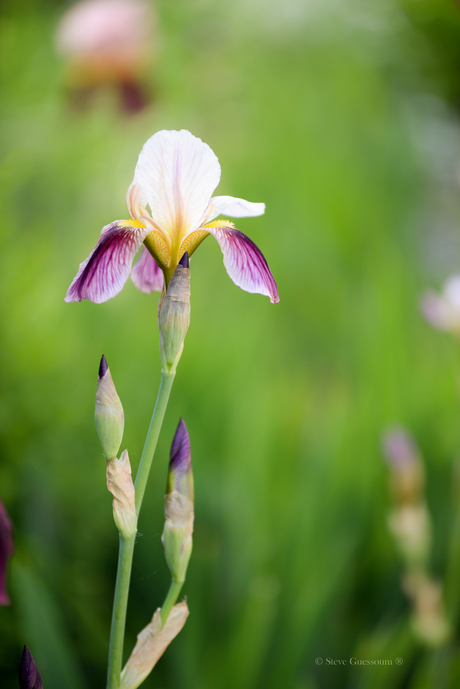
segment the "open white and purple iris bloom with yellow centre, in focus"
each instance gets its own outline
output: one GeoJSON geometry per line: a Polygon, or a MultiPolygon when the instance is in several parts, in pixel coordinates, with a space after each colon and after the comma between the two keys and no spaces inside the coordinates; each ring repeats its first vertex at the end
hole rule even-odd
{"type": "Polygon", "coordinates": [[[135,286],[149,294],[162,290],[185,254],[191,256],[212,235],[233,282],[264,294],[275,304],[278,289],[260,249],[228,220],[262,215],[263,203],[214,196],[220,165],[211,148],[190,132],[160,131],[142,148],[126,195],[130,220],[106,225],[95,249],[79,268],[66,301],[100,304],[118,294],[132,270],[135,286]],[[150,213],[147,210],[150,208],[150,213]]]}

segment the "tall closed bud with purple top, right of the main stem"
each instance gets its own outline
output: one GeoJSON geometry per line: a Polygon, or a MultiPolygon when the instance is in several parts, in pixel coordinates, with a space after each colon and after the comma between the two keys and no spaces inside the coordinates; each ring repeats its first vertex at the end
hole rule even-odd
{"type": "Polygon", "coordinates": [[[162,542],[174,581],[185,581],[192,554],[193,473],[190,439],[181,419],[171,446],[162,542]]]}

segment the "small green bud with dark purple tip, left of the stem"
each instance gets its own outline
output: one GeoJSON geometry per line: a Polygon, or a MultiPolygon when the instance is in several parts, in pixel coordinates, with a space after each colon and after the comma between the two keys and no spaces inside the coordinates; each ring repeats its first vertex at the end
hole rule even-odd
{"type": "Polygon", "coordinates": [[[125,415],[105,356],[99,367],[95,421],[104,456],[107,459],[116,457],[123,438],[125,415]]]}

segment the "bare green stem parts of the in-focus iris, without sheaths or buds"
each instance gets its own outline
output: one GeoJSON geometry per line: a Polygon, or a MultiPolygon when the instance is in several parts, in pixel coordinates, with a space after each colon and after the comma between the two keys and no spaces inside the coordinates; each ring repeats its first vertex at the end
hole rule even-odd
{"type": "MultiPolygon", "coordinates": [[[[161,373],[160,389],[158,391],[155,409],[153,410],[152,420],[150,421],[147,438],[145,439],[144,450],[142,452],[141,461],[137,470],[136,482],[134,484],[136,489],[136,514],[138,517],[175,375],[175,371],[172,373],[165,373],[162,371],[161,373]]],[[[135,540],[136,535],[132,536],[131,538],[123,538],[120,536],[117,581],[115,584],[112,627],[110,630],[107,689],[118,689],[120,686],[126,609],[128,605],[129,581],[131,578],[135,540]]],[[[176,598],[178,595],[179,591],[177,592],[176,598]]]]}

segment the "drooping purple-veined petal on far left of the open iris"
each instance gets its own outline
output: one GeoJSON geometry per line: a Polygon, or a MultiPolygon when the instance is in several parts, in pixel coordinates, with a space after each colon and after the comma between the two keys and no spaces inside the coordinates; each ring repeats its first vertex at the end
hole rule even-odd
{"type": "Polygon", "coordinates": [[[124,220],[106,225],[95,249],[80,264],[65,301],[89,299],[101,304],[121,292],[131,273],[134,256],[149,231],[124,220]]]}

